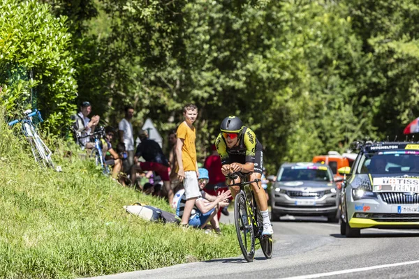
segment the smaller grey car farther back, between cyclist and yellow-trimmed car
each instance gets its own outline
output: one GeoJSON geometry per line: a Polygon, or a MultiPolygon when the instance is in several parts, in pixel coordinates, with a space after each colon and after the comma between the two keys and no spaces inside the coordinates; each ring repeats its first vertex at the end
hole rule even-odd
{"type": "Polygon", "coordinates": [[[279,168],[271,193],[271,220],[287,214],[340,218],[338,189],[332,170],[320,163],[285,163],[279,168]]]}

